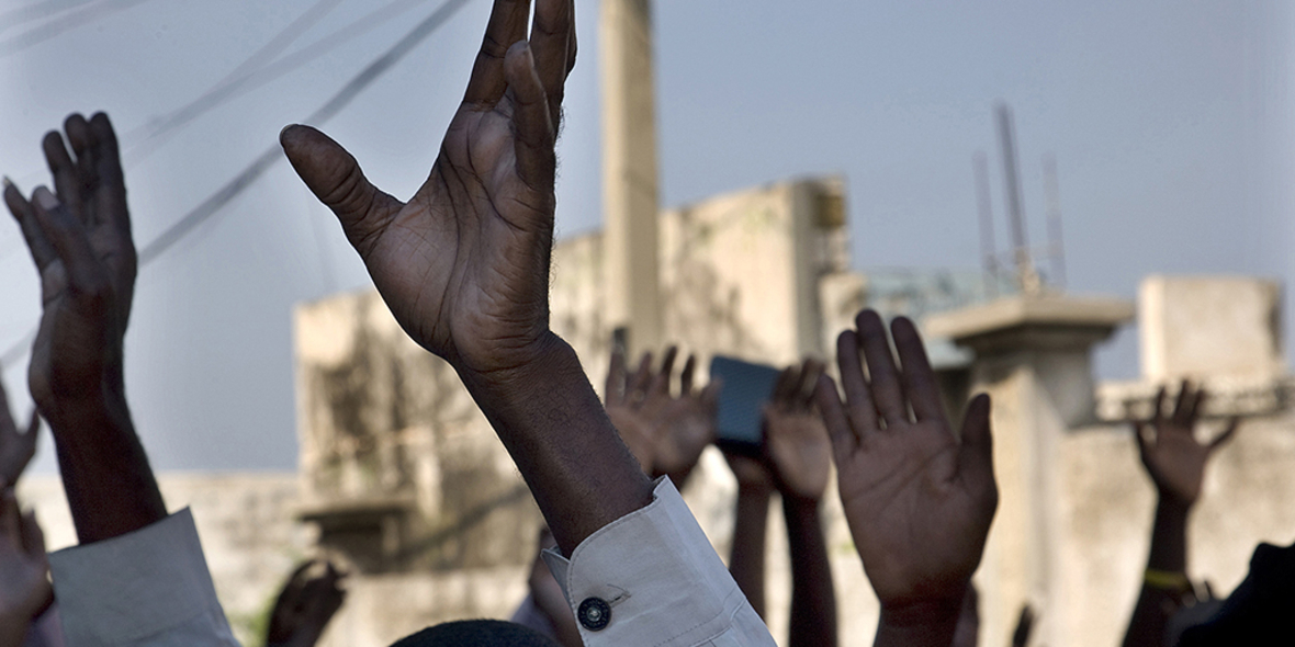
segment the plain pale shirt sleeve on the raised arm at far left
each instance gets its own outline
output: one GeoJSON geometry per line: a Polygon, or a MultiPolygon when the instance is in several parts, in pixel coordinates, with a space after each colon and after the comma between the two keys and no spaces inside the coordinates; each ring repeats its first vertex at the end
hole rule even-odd
{"type": "Polygon", "coordinates": [[[49,555],[63,639],[76,647],[237,647],[184,509],[49,555]]]}

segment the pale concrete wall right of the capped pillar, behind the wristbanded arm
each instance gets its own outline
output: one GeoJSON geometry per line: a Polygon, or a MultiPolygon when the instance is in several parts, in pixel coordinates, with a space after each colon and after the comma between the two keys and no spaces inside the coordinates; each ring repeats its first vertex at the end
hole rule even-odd
{"type": "MultiPolygon", "coordinates": [[[[1224,423],[1210,421],[1203,437],[1224,423]]],[[[1119,644],[1142,585],[1155,492],[1128,426],[1064,436],[1057,471],[1062,494],[1057,586],[1049,646],[1119,644]]],[[[1295,541],[1295,414],[1252,418],[1206,472],[1188,534],[1188,571],[1226,595],[1246,576],[1260,541],[1295,541]]],[[[1041,644],[1041,643],[1040,643],[1041,644]]]]}

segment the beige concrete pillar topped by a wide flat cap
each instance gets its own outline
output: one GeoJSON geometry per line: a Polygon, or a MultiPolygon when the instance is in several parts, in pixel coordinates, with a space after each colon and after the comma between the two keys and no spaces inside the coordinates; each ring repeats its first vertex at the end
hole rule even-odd
{"type": "Polygon", "coordinates": [[[929,334],[975,353],[970,391],[993,399],[1000,503],[976,576],[983,644],[1006,644],[1026,602],[1044,609],[1032,643],[1067,642],[1055,635],[1067,609],[1055,577],[1057,452],[1094,419],[1092,347],[1132,318],[1133,304],[1116,299],[1014,296],[926,321],[929,334]]]}

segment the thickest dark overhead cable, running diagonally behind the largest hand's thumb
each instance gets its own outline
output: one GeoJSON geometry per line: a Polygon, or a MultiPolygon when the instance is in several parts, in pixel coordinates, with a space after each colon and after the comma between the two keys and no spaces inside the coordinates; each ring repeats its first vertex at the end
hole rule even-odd
{"type": "MultiPolygon", "coordinates": [[[[360,70],[359,74],[352,76],[351,80],[342,87],[342,89],[333,94],[333,97],[320,106],[319,110],[311,113],[304,122],[322,124],[335,116],[339,111],[342,111],[342,109],[350,105],[355,97],[368,89],[373,82],[378,80],[378,78],[390,71],[392,66],[408,56],[414,47],[448,22],[449,18],[452,18],[465,4],[467,4],[467,0],[445,0],[444,4],[438,6],[430,16],[423,18],[422,22],[405,34],[404,38],[383,52],[382,56],[373,60],[373,62],[360,70]]],[[[282,151],[280,150],[277,142],[267,148],[260,155],[256,157],[256,159],[251,162],[251,164],[245,167],[238,175],[225,182],[224,186],[216,189],[216,192],[207,197],[207,199],[202,201],[202,203],[180,217],[180,220],[168,226],[164,232],[162,232],[162,234],[145,245],[140,250],[140,265],[144,267],[166,254],[167,250],[192,233],[198,225],[220,212],[221,207],[229,204],[229,202],[237,198],[243,190],[247,189],[247,186],[251,186],[256,179],[264,175],[265,171],[281,158],[282,151]]],[[[0,355],[0,365],[9,366],[12,362],[21,360],[30,349],[32,339],[35,339],[35,329],[19,339],[16,344],[10,345],[4,355],[0,355]]]]}

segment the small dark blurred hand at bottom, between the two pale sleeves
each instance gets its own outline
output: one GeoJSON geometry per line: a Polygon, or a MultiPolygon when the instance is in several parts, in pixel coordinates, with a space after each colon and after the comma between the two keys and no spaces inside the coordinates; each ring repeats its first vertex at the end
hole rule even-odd
{"type": "Polygon", "coordinates": [[[271,611],[265,644],[312,647],[319,642],[346,600],[346,591],[338,586],[344,577],[332,562],[312,559],[297,567],[271,611]]]}

